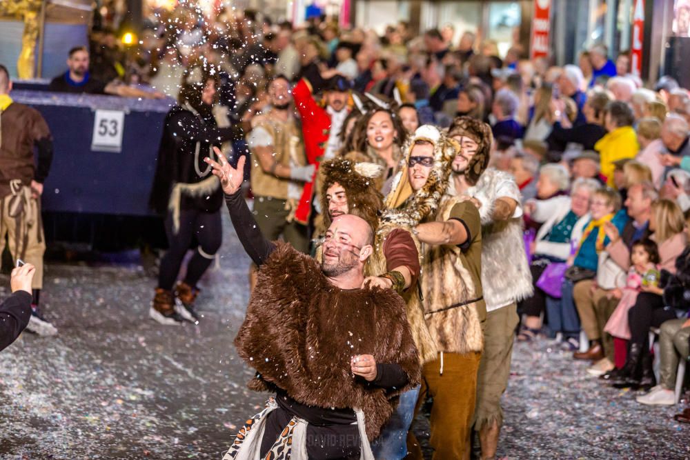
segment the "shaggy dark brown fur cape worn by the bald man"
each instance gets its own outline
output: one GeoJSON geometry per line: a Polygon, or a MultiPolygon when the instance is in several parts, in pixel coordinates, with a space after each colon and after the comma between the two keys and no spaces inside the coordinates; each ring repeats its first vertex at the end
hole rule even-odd
{"type": "Polygon", "coordinates": [[[235,346],[257,370],[250,389],[280,388],[309,406],[360,409],[370,441],[393,413],[396,397],[420,383],[400,296],[393,290],[336,288],[314,259],[286,243],[277,243],[259,270],[235,346]],[[408,385],[386,392],[354,377],[355,354],[397,363],[408,385]]]}

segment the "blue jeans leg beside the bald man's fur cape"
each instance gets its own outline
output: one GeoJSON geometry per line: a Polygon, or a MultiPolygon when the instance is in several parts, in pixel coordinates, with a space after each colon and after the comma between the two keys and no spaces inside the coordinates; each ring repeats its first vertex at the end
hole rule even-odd
{"type": "Polygon", "coordinates": [[[407,432],[415,416],[415,404],[420,395],[420,387],[400,395],[397,409],[388,419],[380,436],[371,443],[375,459],[402,460],[407,455],[407,432]]]}

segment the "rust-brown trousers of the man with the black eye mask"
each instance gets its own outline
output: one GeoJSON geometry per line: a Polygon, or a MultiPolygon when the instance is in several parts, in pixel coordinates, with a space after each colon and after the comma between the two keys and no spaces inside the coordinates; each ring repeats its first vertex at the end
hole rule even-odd
{"type": "MultiPolygon", "coordinates": [[[[433,397],[431,408],[431,438],[433,460],[469,459],[470,434],[477,394],[477,370],[480,352],[466,354],[443,353],[422,369],[422,388],[415,414],[427,397],[433,397]]],[[[408,459],[423,459],[419,443],[408,437],[408,459]]]]}

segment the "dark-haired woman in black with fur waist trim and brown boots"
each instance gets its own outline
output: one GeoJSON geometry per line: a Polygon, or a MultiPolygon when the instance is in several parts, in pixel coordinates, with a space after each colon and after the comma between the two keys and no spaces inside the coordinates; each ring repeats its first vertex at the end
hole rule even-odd
{"type": "Polygon", "coordinates": [[[161,259],[149,316],[165,325],[176,325],[183,319],[198,322],[194,310],[197,282],[221,245],[223,193],[204,158],[213,157],[213,146],[233,139],[237,128],[216,125],[212,110],[216,79],[209,70],[202,66],[185,70],[179,105],[166,117],[150,197],[152,208],[166,216],[170,248],[161,259]],[[184,280],[175,285],[182,259],[194,240],[198,246],[184,280]]]}

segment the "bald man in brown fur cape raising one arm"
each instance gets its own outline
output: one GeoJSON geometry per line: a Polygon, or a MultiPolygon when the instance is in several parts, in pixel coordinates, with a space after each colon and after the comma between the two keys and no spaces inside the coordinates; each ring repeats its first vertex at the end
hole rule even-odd
{"type": "Polygon", "coordinates": [[[331,223],[319,264],[257,230],[237,169],[208,159],[259,279],[235,346],[257,370],[253,390],[276,392],[247,421],[225,459],[373,460],[369,441],[397,396],[416,386],[420,364],[405,305],[393,290],[362,289],[373,230],[364,219],[331,223]]]}

